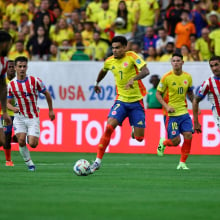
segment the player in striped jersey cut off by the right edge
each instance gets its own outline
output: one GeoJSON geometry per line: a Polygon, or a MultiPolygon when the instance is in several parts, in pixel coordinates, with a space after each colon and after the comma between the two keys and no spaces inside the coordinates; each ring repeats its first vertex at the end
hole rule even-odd
{"type": "Polygon", "coordinates": [[[201,133],[201,124],[199,123],[199,102],[208,95],[211,103],[212,114],[218,129],[220,130],[220,56],[213,56],[209,60],[209,66],[214,75],[210,76],[200,86],[199,91],[193,99],[193,118],[194,130],[201,133]]]}

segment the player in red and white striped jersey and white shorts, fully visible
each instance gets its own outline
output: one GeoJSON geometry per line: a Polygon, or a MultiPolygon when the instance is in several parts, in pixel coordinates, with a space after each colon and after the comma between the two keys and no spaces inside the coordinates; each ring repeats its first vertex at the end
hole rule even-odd
{"type": "Polygon", "coordinates": [[[15,59],[16,78],[8,84],[8,108],[14,111],[14,131],[18,138],[19,151],[23,157],[28,170],[35,171],[35,165],[30,157],[26,146],[28,144],[36,148],[40,136],[39,108],[37,106],[38,92],[46,97],[49,107],[49,118],[55,119],[52,98],[42,80],[38,77],[27,76],[28,60],[20,56],[15,59]],[[15,99],[17,106],[13,106],[15,99]]]}

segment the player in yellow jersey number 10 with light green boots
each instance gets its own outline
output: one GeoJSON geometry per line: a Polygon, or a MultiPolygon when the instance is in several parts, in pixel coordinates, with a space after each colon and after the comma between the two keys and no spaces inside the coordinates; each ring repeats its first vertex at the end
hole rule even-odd
{"type": "Polygon", "coordinates": [[[183,56],[173,54],[171,59],[173,69],[163,75],[157,87],[156,97],[167,112],[165,127],[168,139],[161,138],[157,148],[158,156],[163,156],[166,146],[180,144],[180,134],[184,142],[181,148],[180,162],[177,169],[189,169],[186,159],[190,153],[192,142],[192,120],[187,110],[186,95],[193,101],[192,77],[182,70],[183,56]]]}

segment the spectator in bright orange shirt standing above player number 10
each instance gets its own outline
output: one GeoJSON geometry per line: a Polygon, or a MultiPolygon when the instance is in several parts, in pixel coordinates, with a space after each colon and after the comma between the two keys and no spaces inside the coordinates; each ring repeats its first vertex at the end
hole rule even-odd
{"type": "Polygon", "coordinates": [[[190,35],[196,33],[195,25],[189,20],[189,11],[183,10],[181,13],[181,22],[178,22],[175,28],[176,49],[178,50],[187,45],[190,48],[190,35]]]}

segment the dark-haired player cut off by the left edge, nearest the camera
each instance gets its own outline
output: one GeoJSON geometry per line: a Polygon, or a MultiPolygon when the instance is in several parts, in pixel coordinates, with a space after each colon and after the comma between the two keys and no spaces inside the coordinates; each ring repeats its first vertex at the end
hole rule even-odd
{"type": "MultiPolygon", "coordinates": [[[[0,102],[2,110],[2,118],[6,125],[12,123],[11,118],[7,113],[7,84],[5,75],[7,72],[7,54],[10,50],[12,37],[6,31],[0,31],[0,102]]],[[[0,120],[0,146],[5,146],[5,133],[3,130],[2,122],[0,120]]]]}

